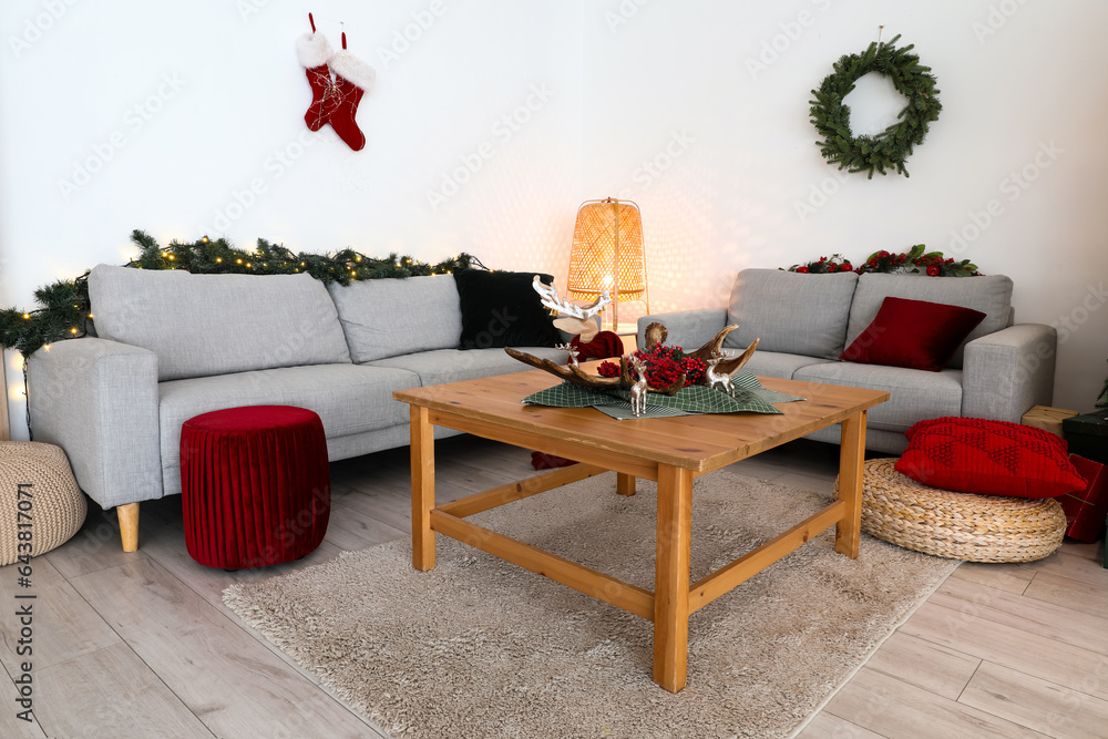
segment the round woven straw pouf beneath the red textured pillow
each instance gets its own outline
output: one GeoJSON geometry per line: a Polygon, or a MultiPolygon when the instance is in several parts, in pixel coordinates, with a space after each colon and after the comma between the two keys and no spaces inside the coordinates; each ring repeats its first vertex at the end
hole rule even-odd
{"type": "MultiPolygon", "coordinates": [[[[1061,546],[1066,514],[1051,497],[1027,500],[929,487],[869,460],[862,531],[925,554],[968,562],[1032,562],[1061,546]]],[[[835,480],[835,494],[839,481],[835,480]]]]}

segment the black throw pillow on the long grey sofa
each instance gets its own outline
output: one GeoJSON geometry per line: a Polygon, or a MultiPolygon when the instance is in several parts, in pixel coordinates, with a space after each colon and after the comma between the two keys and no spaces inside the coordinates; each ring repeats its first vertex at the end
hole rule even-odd
{"type": "MultiPolygon", "coordinates": [[[[547,285],[551,275],[540,275],[547,285]]],[[[535,273],[461,269],[454,273],[462,304],[462,349],[553,347],[562,340],[554,317],[532,283],[535,273]]]]}

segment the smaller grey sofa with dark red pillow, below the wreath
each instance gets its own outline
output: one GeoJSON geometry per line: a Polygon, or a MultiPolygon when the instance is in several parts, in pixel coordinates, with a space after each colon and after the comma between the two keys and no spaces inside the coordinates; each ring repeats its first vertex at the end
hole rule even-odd
{"type": "MultiPolygon", "coordinates": [[[[755,374],[811,383],[888,390],[891,398],[869,413],[866,447],[900,453],[916,421],[964,415],[1019,422],[1033,406],[1049,404],[1057,332],[1049,326],[1014,324],[1012,280],[840,273],[802,275],[746,269],[735,280],[728,307],[645,316],[660,321],[667,343],[698,347],[728,324],[739,324],[729,351],[760,342],[746,369],[755,374]],[[958,305],[986,315],[946,367],[930,372],[840,361],[839,356],[873,321],[888,296],[958,305]]],[[[810,438],[839,441],[838,425],[810,438]]]]}

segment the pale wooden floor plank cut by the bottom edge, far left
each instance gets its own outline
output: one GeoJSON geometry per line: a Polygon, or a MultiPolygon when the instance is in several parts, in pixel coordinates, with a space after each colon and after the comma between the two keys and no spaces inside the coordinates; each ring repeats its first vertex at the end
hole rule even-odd
{"type": "Polygon", "coordinates": [[[51,737],[214,736],[125,644],[54,665],[35,677],[39,721],[51,737]]]}

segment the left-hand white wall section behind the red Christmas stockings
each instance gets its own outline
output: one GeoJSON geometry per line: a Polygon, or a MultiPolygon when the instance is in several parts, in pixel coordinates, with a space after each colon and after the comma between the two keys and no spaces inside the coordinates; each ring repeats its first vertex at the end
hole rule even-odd
{"type": "MultiPolygon", "coordinates": [[[[568,264],[576,3],[6,0],[0,40],[0,305],[31,307],[44,283],[126,261],[134,228],[164,243],[568,264]],[[336,49],[345,23],[377,69],[360,152],[304,124],[295,42],[308,10],[336,49]]],[[[18,430],[20,359],[7,367],[18,430]]]]}

